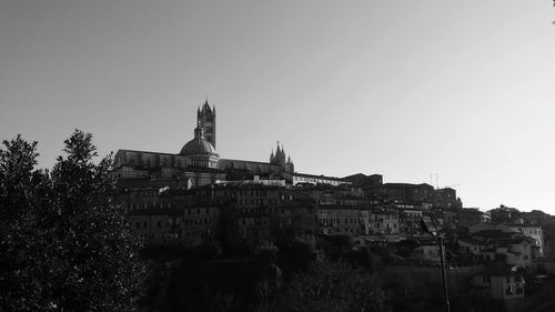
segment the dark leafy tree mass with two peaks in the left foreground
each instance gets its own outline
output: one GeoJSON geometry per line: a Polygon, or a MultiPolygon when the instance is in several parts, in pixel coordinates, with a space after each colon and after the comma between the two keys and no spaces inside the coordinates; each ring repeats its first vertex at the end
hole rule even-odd
{"type": "Polygon", "coordinates": [[[132,311],[144,264],[111,200],[111,157],[94,163],[92,135],[79,130],[64,143],[51,173],[33,171],[37,143],[19,135],[0,153],[0,213],[9,217],[0,286],[14,285],[2,288],[0,310],[132,311]]]}

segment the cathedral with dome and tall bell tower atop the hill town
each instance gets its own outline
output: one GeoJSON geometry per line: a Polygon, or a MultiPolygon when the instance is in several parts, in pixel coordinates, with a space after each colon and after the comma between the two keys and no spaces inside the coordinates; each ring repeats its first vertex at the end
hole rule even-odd
{"type": "Polygon", "coordinates": [[[196,110],[194,137],[179,153],[118,150],[112,174],[120,188],[193,188],[226,180],[283,179],[292,183],[294,165],[283,145],[269,162],[221,159],[216,152],[215,107],[196,110]]]}

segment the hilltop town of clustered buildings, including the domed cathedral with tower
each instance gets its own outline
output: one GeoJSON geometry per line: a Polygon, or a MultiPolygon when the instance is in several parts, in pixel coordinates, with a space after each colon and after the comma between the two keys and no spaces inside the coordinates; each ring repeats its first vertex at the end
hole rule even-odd
{"type": "Polygon", "coordinates": [[[396,263],[437,265],[437,241],[422,225],[427,219],[445,235],[451,263],[490,268],[471,285],[496,299],[522,298],[524,272],[546,252],[541,214],[463,208],[454,189],[383,183],[381,174],[300,173],[280,143],[268,162],[223,159],[215,150],[215,108],[204,102],[196,118],[194,137],[179,153],[115,154],[115,201],[152,243],[218,241],[254,250],[287,238],[344,235],[355,248],[413,241],[396,263]]]}

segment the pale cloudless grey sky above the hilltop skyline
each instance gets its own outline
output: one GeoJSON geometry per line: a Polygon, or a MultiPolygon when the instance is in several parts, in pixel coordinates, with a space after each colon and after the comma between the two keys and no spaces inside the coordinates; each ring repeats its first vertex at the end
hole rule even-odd
{"type": "Polygon", "coordinates": [[[465,207],[555,214],[555,8],[529,0],[0,0],[0,134],[51,167],[178,153],[216,108],[222,158],[383,174],[465,207]]]}

